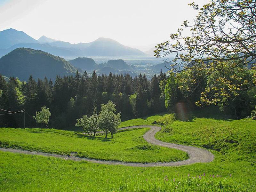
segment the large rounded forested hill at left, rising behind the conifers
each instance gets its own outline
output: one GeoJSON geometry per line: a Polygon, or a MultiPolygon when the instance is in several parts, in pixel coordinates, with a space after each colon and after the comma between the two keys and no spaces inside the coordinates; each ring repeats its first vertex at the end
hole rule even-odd
{"type": "Polygon", "coordinates": [[[44,79],[45,76],[55,79],[57,75],[73,75],[76,68],[63,58],[47,52],[17,48],[0,59],[0,71],[4,76],[27,81],[29,75],[34,79],[44,79]]]}

